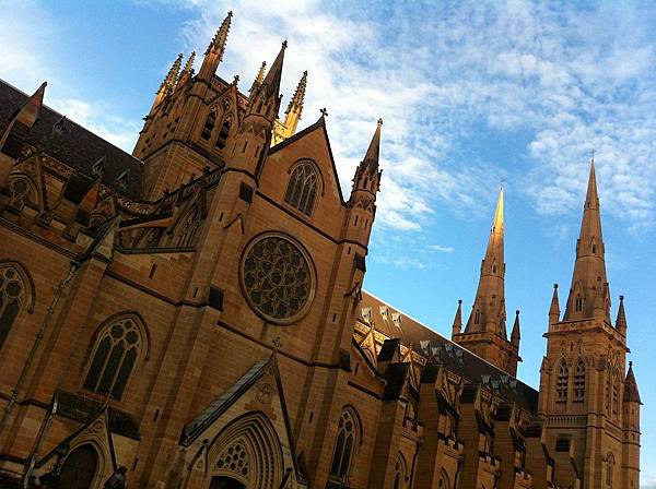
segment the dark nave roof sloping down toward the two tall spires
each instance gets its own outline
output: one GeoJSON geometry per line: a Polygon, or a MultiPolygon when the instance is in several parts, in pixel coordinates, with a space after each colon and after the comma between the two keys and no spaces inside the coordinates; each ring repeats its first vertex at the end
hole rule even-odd
{"type": "Polygon", "coordinates": [[[415,319],[398,311],[398,309],[364,290],[360,307],[372,308],[374,327],[385,336],[390,338],[400,337],[403,345],[411,346],[417,353],[434,361],[444,363],[448,370],[462,375],[469,383],[488,384],[488,387],[493,390],[495,394],[506,401],[516,403],[523,409],[530,412],[537,409],[538,391],[442,336],[415,319]],[[391,320],[384,320],[380,314],[380,307],[389,309],[389,313],[387,314],[389,318],[393,311],[401,314],[400,327],[397,327],[391,320]],[[425,344],[425,342],[429,345],[426,348],[427,351],[421,348],[422,343],[425,344]]]}

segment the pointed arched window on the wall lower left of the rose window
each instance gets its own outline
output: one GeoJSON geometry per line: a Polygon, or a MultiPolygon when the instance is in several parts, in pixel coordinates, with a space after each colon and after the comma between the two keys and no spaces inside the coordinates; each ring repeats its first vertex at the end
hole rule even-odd
{"type": "Polygon", "coordinates": [[[143,335],[136,318],[112,321],[99,332],[84,389],[119,399],[143,348],[143,335]]]}

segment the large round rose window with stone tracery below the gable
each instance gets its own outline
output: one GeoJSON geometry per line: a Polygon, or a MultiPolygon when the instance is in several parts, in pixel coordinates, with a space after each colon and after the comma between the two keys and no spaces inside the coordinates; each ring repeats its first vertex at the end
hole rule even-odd
{"type": "Polygon", "coordinates": [[[248,246],[242,263],[242,284],[258,314],[283,324],[305,313],[314,294],[307,253],[281,235],[267,235],[248,246]]]}

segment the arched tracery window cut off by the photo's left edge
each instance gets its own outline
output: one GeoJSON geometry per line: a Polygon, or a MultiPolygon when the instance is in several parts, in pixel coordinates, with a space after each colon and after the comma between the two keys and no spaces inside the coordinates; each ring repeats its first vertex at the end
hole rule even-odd
{"type": "Polygon", "coordinates": [[[0,262],[0,348],[7,341],[19,312],[32,298],[32,285],[17,263],[0,262]]]}

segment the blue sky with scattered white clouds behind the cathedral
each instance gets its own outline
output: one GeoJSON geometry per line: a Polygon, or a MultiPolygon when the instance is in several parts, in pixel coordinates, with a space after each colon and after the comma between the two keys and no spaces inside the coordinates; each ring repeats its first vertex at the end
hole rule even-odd
{"type": "Polygon", "coordinates": [[[0,77],[26,92],[48,80],[49,105],[131,151],[176,55],[202,53],[227,10],[219,74],[239,74],[243,90],[286,38],[283,106],[307,69],[301,126],[328,108],[344,190],[385,120],[365,284],[378,297],[448,335],[457,300],[471,307],[505,181],[506,306],[522,310],[519,377],[532,385],[594,147],[613,317],[623,294],[645,403],[643,487],[656,487],[656,5],[261,3],[0,0],[0,77]]]}

